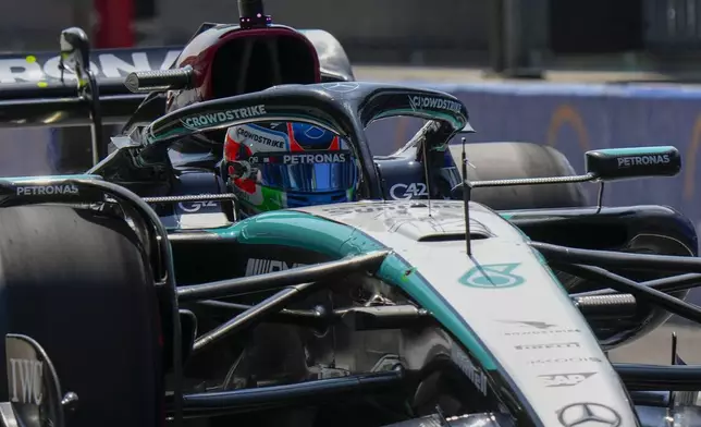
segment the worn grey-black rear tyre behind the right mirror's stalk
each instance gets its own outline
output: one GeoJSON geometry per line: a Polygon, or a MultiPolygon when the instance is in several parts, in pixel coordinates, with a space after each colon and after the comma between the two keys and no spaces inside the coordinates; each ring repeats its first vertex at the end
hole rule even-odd
{"type": "MultiPolygon", "coordinates": [[[[460,170],[462,145],[451,145],[460,170]]],[[[574,175],[567,158],[555,148],[531,143],[477,143],[465,148],[471,181],[574,175]]],[[[462,172],[460,172],[462,173],[462,172]]],[[[587,206],[582,184],[519,185],[475,188],[472,200],[492,209],[587,206]]]]}

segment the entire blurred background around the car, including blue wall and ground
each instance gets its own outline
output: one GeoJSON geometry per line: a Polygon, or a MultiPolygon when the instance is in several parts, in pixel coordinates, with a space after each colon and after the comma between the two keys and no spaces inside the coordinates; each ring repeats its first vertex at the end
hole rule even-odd
{"type": "MultiPolygon", "coordinates": [[[[478,132],[471,142],[548,144],[579,172],[588,149],[675,145],[680,176],[616,183],[605,202],[672,206],[701,229],[701,0],[267,0],[266,11],[333,34],[357,80],[454,94],[478,132]]],[[[74,25],[95,48],[179,47],[202,22],[237,19],[234,0],[3,1],[0,50],[58,53],[59,33],[74,25]]],[[[21,81],[22,70],[2,66],[3,83],[21,81]]],[[[398,148],[416,126],[372,130],[373,151],[398,148]]],[[[0,175],[90,166],[87,129],[2,129],[0,139],[0,175]]],[[[682,357],[701,363],[701,334],[676,319],[613,357],[668,363],[673,330],[682,357]]]]}

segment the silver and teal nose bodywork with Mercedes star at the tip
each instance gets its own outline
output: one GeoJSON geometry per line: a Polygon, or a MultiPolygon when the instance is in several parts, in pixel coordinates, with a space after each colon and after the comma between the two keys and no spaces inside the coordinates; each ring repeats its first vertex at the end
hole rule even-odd
{"type": "Polygon", "coordinates": [[[620,425],[636,425],[632,403],[595,335],[528,237],[491,209],[470,204],[468,256],[462,202],[430,205],[360,202],[280,210],[208,232],[242,245],[283,245],[332,258],[391,248],[377,277],[430,310],[457,343],[451,356],[471,370],[478,388],[485,386],[480,378],[489,378],[489,393],[513,395],[545,426],[561,425],[559,411],[576,403],[605,405],[620,425]],[[558,375],[581,382],[557,387],[558,375]]]}

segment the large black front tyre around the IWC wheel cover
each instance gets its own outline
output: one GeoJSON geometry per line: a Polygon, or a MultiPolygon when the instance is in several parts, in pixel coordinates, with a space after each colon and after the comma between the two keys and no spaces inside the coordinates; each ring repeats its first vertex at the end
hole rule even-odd
{"type": "MultiPolygon", "coordinates": [[[[78,396],[69,426],[161,423],[156,289],[123,219],[59,205],[0,208],[0,331],[46,350],[61,392],[78,396]]],[[[7,377],[1,401],[9,401],[7,377]]]]}

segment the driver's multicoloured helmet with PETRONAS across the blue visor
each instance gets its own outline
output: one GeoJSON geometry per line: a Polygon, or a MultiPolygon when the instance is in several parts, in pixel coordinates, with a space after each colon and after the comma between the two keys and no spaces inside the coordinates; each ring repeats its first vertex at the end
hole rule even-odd
{"type": "Polygon", "coordinates": [[[244,215],[352,202],[359,182],[348,143],[306,123],[230,127],[222,166],[244,215]]]}

